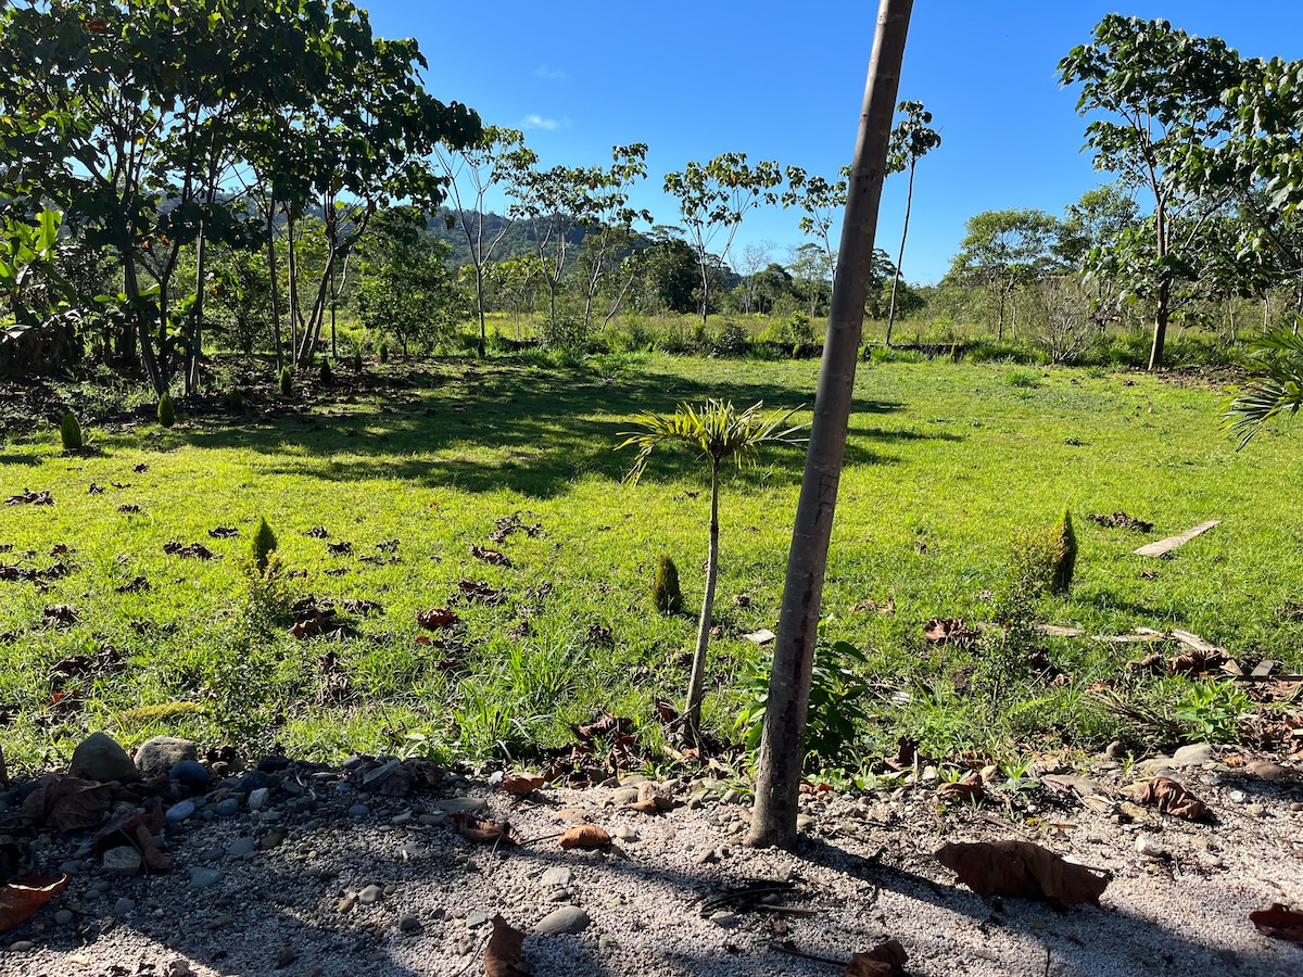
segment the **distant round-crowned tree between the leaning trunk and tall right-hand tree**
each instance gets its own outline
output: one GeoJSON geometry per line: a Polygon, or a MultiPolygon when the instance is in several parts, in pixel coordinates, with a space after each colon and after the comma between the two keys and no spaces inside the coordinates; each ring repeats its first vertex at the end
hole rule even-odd
{"type": "Polygon", "coordinates": [[[1053,264],[1058,221],[1041,210],[988,210],[964,224],[967,234],[951,259],[956,279],[980,281],[999,309],[997,336],[1005,337],[1005,311],[1014,292],[1053,264]]]}

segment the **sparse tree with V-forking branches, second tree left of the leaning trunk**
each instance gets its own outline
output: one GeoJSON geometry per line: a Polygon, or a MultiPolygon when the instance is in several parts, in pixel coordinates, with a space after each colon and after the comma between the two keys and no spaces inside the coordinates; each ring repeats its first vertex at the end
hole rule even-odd
{"type": "Polygon", "coordinates": [[[702,324],[710,307],[711,248],[722,236],[718,262],[727,261],[743,216],[761,203],[777,203],[775,188],[782,181],[778,163],[760,162],[752,167],[745,152],[724,152],[705,164],[689,162],[683,172],[666,173],[665,191],[679,201],[679,214],[701,271],[702,324]]]}

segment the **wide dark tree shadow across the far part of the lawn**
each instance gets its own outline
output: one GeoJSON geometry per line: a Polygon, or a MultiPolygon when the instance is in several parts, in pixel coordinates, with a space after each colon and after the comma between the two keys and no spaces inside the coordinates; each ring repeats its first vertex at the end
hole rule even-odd
{"type": "MultiPolygon", "coordinates": [[[[509,488],[551,498],[577,478],[622,478],[632,451],[616,452],[636,425],[629,416],[670,412],[679,403],[723,397],[735,404],[764,400],[774,408],[800,406],[805,391],[756,383],[697,380],[628,371],[542,370],[513,365],[444,367],[414,375],[418,386],[371,391],[370,403],[318,403],[308,410],[272,413],[241,427],[206,425],[185,432],[195,447],[245,448],[276,456],[272,473],[330,481],[391,478],[423,486],[455,486],[485,492],[509,488]],[[374,395],[374,396],[373,396],[374,395]]],[[[899,404],[856,401],[857,416],[899,410],[899,404]]],[[[202,422],[199,422],[202,425],[202,422]]],[[[954,440],[952,434],[852,427],[846,464],[890,464],[876,442],[954,440]]],[[[801,477],[800,448],[774,446],[762,456],[770,483],[801,477]]],[[[652,478],[698,478],[704,466],[689,452],[658,452],[652,478]]]]}

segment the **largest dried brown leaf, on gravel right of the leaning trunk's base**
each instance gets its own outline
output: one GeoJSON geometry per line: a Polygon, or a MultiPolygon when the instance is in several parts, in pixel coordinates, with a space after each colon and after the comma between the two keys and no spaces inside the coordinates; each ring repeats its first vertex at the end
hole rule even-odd
{"type": "Polygon", "coordinates": [[[942,845],[937,861],[980,896],[1049,899],[1100,904],[1109,885],[1083,865],[1063,861],[1031,842],[958,842],[942,845]]]}

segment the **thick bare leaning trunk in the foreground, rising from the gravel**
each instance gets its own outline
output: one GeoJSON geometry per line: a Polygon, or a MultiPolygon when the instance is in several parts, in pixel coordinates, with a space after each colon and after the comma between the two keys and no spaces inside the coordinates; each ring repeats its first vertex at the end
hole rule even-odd
{"type": "Polygon", "coordinates": [[[855,363],[864,327],[864,297],[873,268],[873,236],[886,177],[891,116],[900,87],[900,61],[912,8],[913,0],[881,0],[878,7],[878,29],[851,165],[840,261],[814,399],[814,422],[805,453],[792,546],[787,555],[787,580],[774,642],[774,667],[769,676],[748,845],[790,847],[796,842],[814,640],[846,453],[855,363]]]}

